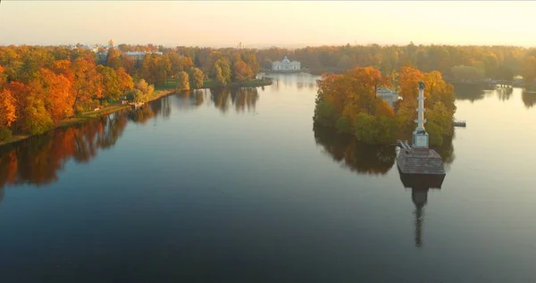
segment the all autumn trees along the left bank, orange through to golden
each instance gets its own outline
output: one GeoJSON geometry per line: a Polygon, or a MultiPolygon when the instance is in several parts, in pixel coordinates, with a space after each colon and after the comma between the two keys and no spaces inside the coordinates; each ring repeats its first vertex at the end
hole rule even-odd
{"type": "Polygon", "coordinates": [[[254,79],[259,67],[251,51],[194,61],[177,50],[137,60],[115,47],[97,56],[81,47],[0,46],[0,143],[88,119],[103,108],[123,109],[125,98],[143,104],[172,90],[269,84],[254,79]]]}

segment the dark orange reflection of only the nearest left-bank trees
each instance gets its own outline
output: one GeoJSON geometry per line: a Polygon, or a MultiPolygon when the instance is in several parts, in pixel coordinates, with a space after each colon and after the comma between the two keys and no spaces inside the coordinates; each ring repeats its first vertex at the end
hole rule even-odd
{"type": "Polygon", "coordinates": [[[56,181],[56,173],[65,162],[89,162],[99,150],[115,145],[128,123],[128,115],[128,111],[116,112],[3,146],[0,187],[23,183],[41,186],[56,181]]]}

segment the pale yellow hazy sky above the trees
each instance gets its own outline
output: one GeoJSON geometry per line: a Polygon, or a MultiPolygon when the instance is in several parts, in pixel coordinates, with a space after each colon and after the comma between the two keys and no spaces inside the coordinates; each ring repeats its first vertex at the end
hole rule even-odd
{"type": "Polygon", "coordinates": [[[536,2],[18,1],[0,4],[0,45],[536,46],[536,2]]]}

